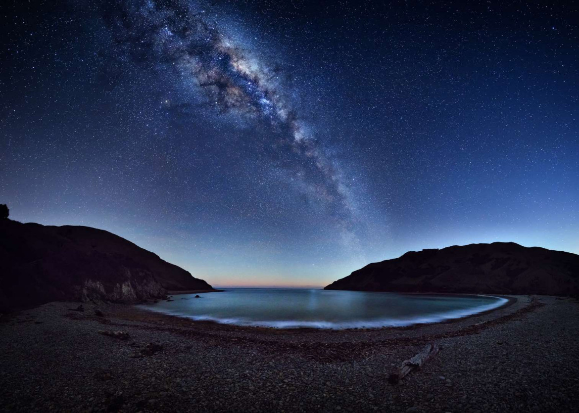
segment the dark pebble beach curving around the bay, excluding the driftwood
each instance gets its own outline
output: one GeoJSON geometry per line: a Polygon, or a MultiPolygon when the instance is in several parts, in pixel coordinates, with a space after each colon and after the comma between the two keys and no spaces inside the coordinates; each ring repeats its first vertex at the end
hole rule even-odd
{"type": "Polygon", "coordinates": [[[452,323],[367,331],[219,326],[123,305],[68,310],[77,305],[0,318],[0,411],[561,412],[579,405],[579,303],[571,299],[519,296],[452,323]],[[387,384],[393,366],[430,340],[441,346],[438,355],[401,385],[387,384]],[[163,349],[151,354],[151,342],[163,349]]]}

